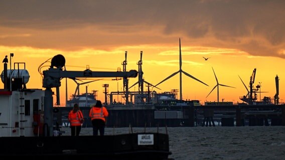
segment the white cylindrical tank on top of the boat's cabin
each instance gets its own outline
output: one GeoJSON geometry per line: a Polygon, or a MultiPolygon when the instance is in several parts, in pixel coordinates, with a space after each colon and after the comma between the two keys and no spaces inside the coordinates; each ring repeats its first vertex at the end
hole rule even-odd
{"type": "MultiPolygon", "coordinates": [[[[30,78],[29,72],[27,69],[8,69],[7,70],[7,76],[8,79],[10,79],[11,77],[14,79],[21,79],[21,82],[23,82],[23,84],[27,84],[30,78]],[[10,73],[11,71],[11,73],[10,73]]],[[[4,70],[1,73],[1,80],[4,83],[4,70]]]]}

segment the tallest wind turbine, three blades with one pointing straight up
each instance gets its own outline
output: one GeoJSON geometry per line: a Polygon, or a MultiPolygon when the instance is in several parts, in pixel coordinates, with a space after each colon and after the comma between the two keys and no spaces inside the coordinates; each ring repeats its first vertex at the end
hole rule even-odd
{"type": "MultiPolygon", "coordinates": [[[[170,76],[168,76],[167,78],[165,78],[164,80],[162,80],[161,82],[159,82],[157,85],[159,85],[160,83],[164,82],[165,80],[173,77],[174,75],[176,75],[177,73],[180,73],[180,100],[182,100],[182,73],[184,73],[185,75],[197,80],[197,81],[200,81],[201,83],[209,86],[208,84],[204,83],[203,81],[195,78],[194,76],[188,74],[187,72],[183,71],[182,70],[182,57],[181,57],[181,42],[180,42],[180,38],[179,38],[179,70],[177,72],[174,72],[173,74],[171,74],[170,76]]],[[[155,85],[155,86],[157,86],[155,85]]]]}

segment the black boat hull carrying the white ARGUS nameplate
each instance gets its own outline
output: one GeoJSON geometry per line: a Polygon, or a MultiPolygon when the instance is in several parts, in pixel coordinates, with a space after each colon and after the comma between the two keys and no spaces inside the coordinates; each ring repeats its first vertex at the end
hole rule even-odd
{"type": "Polygon", "coordinates": [[[1,137],[0,157],[41,159],[167,159],[169,137],[164,133],[130,133],[104,136],[1,137]],[[138,135],[153,135],[154,144],[139,145],[138,135]]]}

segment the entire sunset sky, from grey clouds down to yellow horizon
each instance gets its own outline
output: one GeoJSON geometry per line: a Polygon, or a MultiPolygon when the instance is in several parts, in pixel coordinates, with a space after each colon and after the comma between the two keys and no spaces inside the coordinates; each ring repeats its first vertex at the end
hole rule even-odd
{"type": "MultiPolygon", "coordinates": [[[[273,98],[278,75],[283,102],[284,6],[284,0],[1,0],[0,56],[14,53],[12,63],[26,62],[27,87],[43,88],[38,67],[57,54],[65,57],[67,70],[83,71],[89,65],[92,71],[116,71],[122,70],[125,51],[126,69],[137,70],[142,50],[143,77],[156,85],[179,70],[181,38],[182,70],[209,85],[183,74],[183,99],[217,101],[217,89],[206,98],[216,85],[213,67],[220,84],[235,87],[220,86],[219,100],[242,102],[239,97],[247,90],[238,76],[248,86],[256,68],[254,87],[261,84],[261,99],[273,98]]],[[[122,80],[111,79],[80,85],[80,93],[87,85],[104,101],[102,84],[109,84],[109,92],[123,89],[122,80]]],[[[129,86],[136,81],[138,77],[129,78],[129,86]]],[[[65,80],[61,82],[65,103],[65,80]]],[[[158,87],[151,89],[179,89],[179,74],[158,87]]],[[[68,79],[68,97],[75,88],[68,79]]]]}

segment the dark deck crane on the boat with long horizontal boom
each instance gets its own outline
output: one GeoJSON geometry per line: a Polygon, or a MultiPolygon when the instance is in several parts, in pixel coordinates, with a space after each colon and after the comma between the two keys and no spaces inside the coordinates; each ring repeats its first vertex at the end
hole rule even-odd
{"type": "MultiPolygon", "coordinates": [[[[44,123],[47,124],[46,135],[53,134],[53,91],[52,88],[56,87],[56,96],[59,99],[59,87],[61,86],[60,80],[62,78],[94,78],[94,77],[136,77],[137,71],[92,71],[87,68],[84,71],[67,71],[63,70],[65,66],[65,58],[63,55],[55,55],[51,60],[51,66],[48,70],[43,71],[43,87],[45,87],[44,97],[44,123]]],[[[60,101],[57,101],[60,105],[60,101]]]]}

